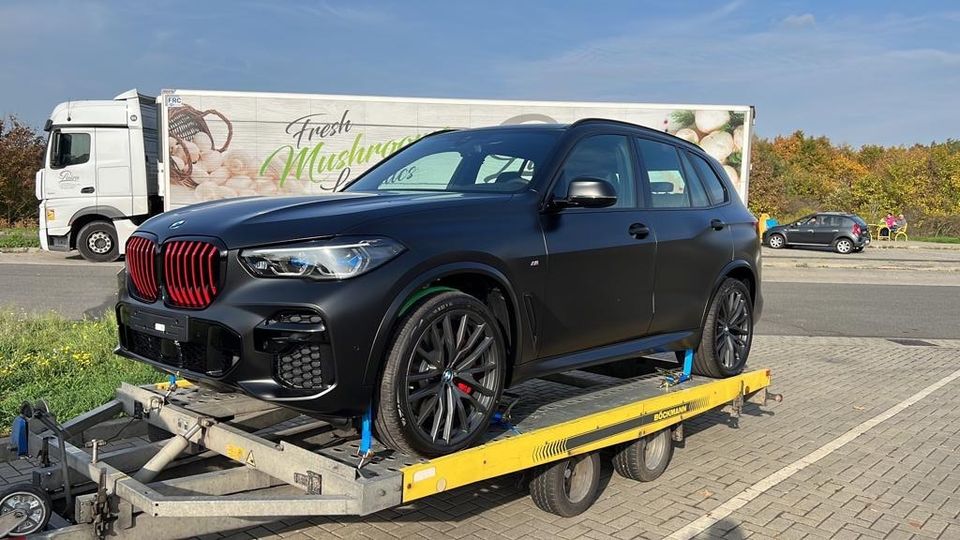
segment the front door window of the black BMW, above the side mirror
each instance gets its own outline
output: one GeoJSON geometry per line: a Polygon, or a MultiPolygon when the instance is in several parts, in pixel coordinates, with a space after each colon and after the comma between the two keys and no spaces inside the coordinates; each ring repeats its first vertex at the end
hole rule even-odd
{"type": "Polygon", "coordinates": [[[630,140],[623,135],[593,135],[573,147],[560,169],[553,196],[566,198],[570,182],[575,178],[606,180],[617,190],[614,208],[634,208],[636,179],[630,160],[630,140]]]}

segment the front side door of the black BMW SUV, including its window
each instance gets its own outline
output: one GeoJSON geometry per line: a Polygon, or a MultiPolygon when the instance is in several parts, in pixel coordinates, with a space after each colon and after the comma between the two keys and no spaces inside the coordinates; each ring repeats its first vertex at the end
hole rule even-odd
{"type": "Polygon", "coordinates": [[[576,142],[555,176],[552,196],[570,181],[614,185],[607,208],[564,208],[541,215],[548,269],[538,356],[556,356],[643,336],[653,316],[656,243],[637,199],[637,170],[626,134],[576,142]]]}

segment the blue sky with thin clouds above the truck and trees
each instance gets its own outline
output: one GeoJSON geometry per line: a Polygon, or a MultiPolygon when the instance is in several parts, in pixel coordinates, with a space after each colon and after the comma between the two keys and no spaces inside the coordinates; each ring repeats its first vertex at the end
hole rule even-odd
{"type": "Polygon", "coordinates": [[[960,138],[960,3],[0,5],[0,113],[137,87],[731,103],[838,142],[960,138]]]}

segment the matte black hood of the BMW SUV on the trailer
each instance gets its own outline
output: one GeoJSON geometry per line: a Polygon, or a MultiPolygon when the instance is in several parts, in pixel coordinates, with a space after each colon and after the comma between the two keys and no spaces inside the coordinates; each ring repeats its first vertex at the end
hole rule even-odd
{"type": "Polygon", "coordinates": [[[236,249],[333,236],[387,216],[458,204],[498,204],[509,198],[500,193],[449,192],[245,197],[171,210],[149,219],[138,231],[156,235],[160,242],[213,236],[236,249]]]}

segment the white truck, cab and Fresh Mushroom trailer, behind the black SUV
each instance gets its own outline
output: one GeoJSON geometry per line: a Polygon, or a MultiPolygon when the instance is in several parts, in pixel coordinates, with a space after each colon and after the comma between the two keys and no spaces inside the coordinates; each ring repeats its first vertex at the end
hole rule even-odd
{"type": "Polygon", "coordinates": [[[749,106],[202,90],[165,90],[153,99],[131,90],[54,109],[37,173],[41,245],[113,260],[136,226],[162,211],[231,197],[326,195],[434,131],[583,118],[639,124],[699,144],[746,200],[749,106]]]}

